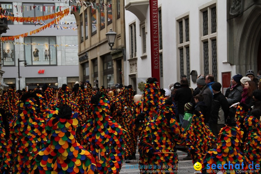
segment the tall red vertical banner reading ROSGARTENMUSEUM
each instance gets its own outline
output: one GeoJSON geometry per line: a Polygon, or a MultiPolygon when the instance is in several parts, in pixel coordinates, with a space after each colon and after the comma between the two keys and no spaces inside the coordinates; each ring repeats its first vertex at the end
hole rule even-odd
{"type": "Polygon", "coordinates": [[[150,28],[151,28],[151,76],[157,78],[160,85],[158,0],[150,0],[150,28]]]}

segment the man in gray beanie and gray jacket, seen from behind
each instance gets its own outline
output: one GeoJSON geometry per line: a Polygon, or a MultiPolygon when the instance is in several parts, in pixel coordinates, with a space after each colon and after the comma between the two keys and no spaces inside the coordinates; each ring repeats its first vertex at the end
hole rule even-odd
{"type": "Polygon", "coordinates": [[[210,116],[210,111],[211,111],[211,104],[212,104],[212,99],[213,99],[213,95],[211,90],[207,87],[206,82],[205,82],[205,78],[200,76],[197,81],[197,87],[200,89],[200,93],[201,95],[203,95],[204,97],[204,103],[207,106],[207,112],[204,115],[204,122],[205,124],[207,124],[209,126],[209,116],[210,116]]]}

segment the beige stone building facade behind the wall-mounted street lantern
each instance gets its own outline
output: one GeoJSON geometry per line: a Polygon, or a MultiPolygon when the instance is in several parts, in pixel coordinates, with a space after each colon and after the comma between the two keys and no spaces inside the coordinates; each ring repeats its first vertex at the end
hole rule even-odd
{"type": "Polygon", "coordinates": [[[125,49],[124,2],[96,0],[86,3],[71,4],[77,9],[71,13],[75,15],[79,28],[79,79],[88,80],[98,87],[126,84],[126,59],[122,51],[125,49]],[[110,29],[117,33],[113,48],[120,50],[110,50],[105,35],[110,29]],[[98,80],[98,85],[95,80],[98,80]]]}

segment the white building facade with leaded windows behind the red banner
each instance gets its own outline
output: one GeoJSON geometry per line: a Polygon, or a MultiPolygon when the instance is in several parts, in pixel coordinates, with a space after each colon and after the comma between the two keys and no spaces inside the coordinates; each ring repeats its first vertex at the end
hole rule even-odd
{"type": "MultiPolygon", "coordinates": [[[[149,0],[125,3],[126,81],[138,88],[140,82],[151,77],[149,0]]],[[[195,88],[196,75],[213,74],[222,83],[226,73],[236,73],[236,66],[227,58],[226,9],[226,1],[158,0],[161,88],[168,88],[184,75],[195,88]]]]}

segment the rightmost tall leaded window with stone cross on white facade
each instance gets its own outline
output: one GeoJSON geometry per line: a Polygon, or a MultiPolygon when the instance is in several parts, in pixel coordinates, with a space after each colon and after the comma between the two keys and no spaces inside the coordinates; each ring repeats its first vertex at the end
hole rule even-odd
{"type": "Polygon", "coordinates": [[[217,15],[215,4],[201,10],[201,58],[204,75],[218,79],[217,15]]]}

